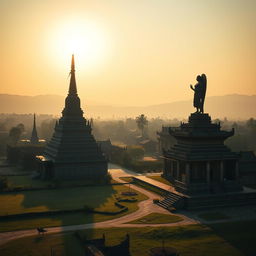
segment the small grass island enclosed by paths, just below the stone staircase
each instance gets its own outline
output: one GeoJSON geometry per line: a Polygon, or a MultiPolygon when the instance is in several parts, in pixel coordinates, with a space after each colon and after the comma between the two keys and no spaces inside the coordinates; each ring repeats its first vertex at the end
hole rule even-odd
{"type": "Polygon", "coordinates": [[[161,213],[150,213],[143,218],[134,220],[132,224],[162,224],[162,223],[175,223],[182,221],[183,218],[176,215],[161,214],[161,213]]]}

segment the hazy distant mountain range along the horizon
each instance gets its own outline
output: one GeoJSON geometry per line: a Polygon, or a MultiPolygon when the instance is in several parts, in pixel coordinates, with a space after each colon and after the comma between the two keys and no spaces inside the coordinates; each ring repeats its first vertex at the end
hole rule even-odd
{"type": "MultiPolygon", "coordinates": [[[[20,96],[0,94],[0,113],[38,113],[60,115],[64,107],[64,96],[38,95],[20,96]]],[[[119,118],[135,117],[145,114],[148,117],[187,118],[195,109],[192,99],[144,107],[120,107],[114,105],[95,105],[86,101],[82,108],[87,117],[119,118]]],[[[207,97],[205,111],[212,118],[248,119],[256,117],[256,95],[225,95],[207,97]]]]}

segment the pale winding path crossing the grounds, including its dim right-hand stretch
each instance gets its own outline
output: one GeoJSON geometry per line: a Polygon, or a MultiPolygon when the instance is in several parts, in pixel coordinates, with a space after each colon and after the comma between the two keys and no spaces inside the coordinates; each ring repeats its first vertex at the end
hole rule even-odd
{"type": "MultiPolygon", "coordinates": [[[[123,182],[120,177],[127,177],[127,176],[137,176],[144,179],[143,175],[139,175],[132,171],[120,168],[116,165],[110,165],[110,173],[118,182],[123,182]]],[[[127,185],[128,186],[128,185],[127,185]]],[[[256,207],[248,206],[248,207],[238,207],[238,208],[227,208],[222,209],[221,212],[231,216],[230,219],[224,220],[216,220],[216,221],[205,221],[198,218],[197,213],[192,212],[180,212],[178,215],[183,218],[183,221],[176,222],[176,223],[168,223],[168,224],[128,224],[133,220],[142,218],[149,213],[163,213],[163,214],[171,214],[167,210],[153,204],[153,199],[159,198],[159,195],[156,195],[152,192],[149,192],[141,187],[136,185],[130,185],[130,187],[134,190],[137,190],[143,194],[145,194],[148,199],[142,201],[138,204],[139,209],[133,213],[127,214],[120,218],[104,221],[104,222],[97,222],[97,223],[89,223],[89,224],[81,224],[81,225],[71,225],[71,226],[61,226],[61,227],[52,227],[47,228],[47,234],[52,233],[60,233],[60,232],[67,232],[67,231],[76,231],[76,230],[84,230],[84,229],[92,229],[92,228],[131,228],[131,227],[173,227],[173,226],[182,226],[182,225],[190,225],[190,224],[209,224],[209,223],[224,223],[224,222],[233,222],[233,221],[241,221],[241,220],[249,220],[255,219],[255,211],[256,207]]],[[[15,240],[18,238],[26,237],[26,236],[33,236],[37,235],[37,231],[33,230],[20,230],[20,231],[12,231],[12,232],[4,232],[0,233],[0,245],[5,244],[11,240],[15,240]]]]}

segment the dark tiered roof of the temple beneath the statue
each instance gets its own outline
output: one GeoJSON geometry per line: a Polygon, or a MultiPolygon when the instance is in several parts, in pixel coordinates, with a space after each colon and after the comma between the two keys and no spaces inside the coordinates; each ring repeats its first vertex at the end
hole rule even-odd
{"type": "Polygon", "coordinates": [[[165,152],[168,158],[188,161],[237,158],[237,154],[224,145],[224,140],[232,136],[234,130],[221,130],[208,114],[191,114],[188,123],[169,128],[169,132],[177,143],[165,152]]]}

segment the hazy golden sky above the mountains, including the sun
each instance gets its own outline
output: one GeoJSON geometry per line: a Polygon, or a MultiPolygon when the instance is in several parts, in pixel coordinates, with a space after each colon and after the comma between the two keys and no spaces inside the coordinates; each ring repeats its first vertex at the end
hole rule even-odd
{"type": "Polygon", "coordinates": [[[256,94],[255,0],[0,0],[0,93],[150,105],[256,94]],[[73,48],[74,49],[73,49],[73,48]]]}

